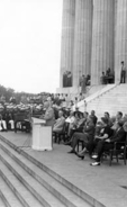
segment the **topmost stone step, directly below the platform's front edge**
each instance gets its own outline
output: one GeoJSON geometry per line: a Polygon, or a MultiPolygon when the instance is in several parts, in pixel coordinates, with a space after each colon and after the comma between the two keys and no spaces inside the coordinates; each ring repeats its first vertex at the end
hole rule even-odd
{"type": "Polygon", "coordinates": [[[51,176],[53,179],[55,179],[56,181],[58,181],[59,183],[61,183],[67,189],[69,189],[74,194],[76,194],[78,197],[82,198],[86,202],[85,205],[87,205],[87,203],[88,203],[90,206],[93,206],[93,207],[96,207],[96,206],[104,207],[104,205],[101,204],[99,201],[97,201],[95,198],[93,198],[92,196],[90,196],[86,192],[82,191],[80,188],[78,188],[73,183],[69,182],[68,180],[66,180],[65,178],[63,178],[62,176],[60,176],[58,173],[56,173],[53,170],[51,170],[50,168],[48,168],[43,163],[41,163],[38,160],[36,160],[29,153],[25,152],[21,148],[18,148],[15,144],[13,144],[12,142],[10,142],[5,137],[3,137],[3,136],[0,135],[0,140],[3,143],[6,143],[7,145],[9,145],[12,149],[16,150],[19,154],[23,155],[23,157],[25,157],[30,162],[32,162],[34,165],[36,165],[38,168],[40,168],[41,170],[43,170],[44,172],[46,172],[49,176],[51,176]]]}

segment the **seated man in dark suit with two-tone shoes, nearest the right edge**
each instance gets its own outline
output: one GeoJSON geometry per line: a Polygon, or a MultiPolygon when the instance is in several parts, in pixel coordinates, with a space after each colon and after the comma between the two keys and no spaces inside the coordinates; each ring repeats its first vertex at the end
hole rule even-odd
{"type": "MultiPolygon", "coordinates": [[[[117,130],[113,136],[105,140],[100,140],[98,142],[96,154],[92,156],[92,158],[94,158],[96,161],[91,163],[92,166],[100,165],[100,158],[103,152],[112,149],[115,142],[124,142],[126,140],[126,132],[124,130],[124,126],[127,125],[127,122],[125,122],[123,125],[123,121],[119,121],[117,125],[117,130]]],[[[119,144],[118,148],[120,147],[121,145],[119,144]]]]}

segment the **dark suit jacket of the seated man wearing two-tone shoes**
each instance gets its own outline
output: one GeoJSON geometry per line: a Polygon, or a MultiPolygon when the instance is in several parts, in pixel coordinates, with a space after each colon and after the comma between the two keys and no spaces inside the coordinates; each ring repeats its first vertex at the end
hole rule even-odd
{"type": "Polygon", "coordinates": [[[111,142],[124,142],[126,140],[126,132],[123,127],[116,130],[114,136],[110,137],[111,142]]]}

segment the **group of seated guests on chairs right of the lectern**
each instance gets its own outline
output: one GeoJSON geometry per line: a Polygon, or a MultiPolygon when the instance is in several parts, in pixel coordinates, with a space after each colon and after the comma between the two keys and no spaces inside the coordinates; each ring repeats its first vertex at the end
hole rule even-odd
{"type": "MultiPolygon", "coordinates": [[[[103,153],[113,149],[114,143],[120,142],[117,145],[120,149],[122,142],[126,141],[127,114],[123,116],[123,113],[119,111],[116,116],[110,117],[110,114],[105,112],[104,116],[98,120],[94,110],[89,114],[86,111],[81,113],[77,109],[74,112],[70,111],[68,116],[60,110],[53,132],[59,135],[63,129],[66,136],[62,141],[71,147],[68,153],[84,159],[88,152],[90,158],[95,160],[90,164],[97,166],[101,164],[103,153]],[[82,142],[83,150],[77,152],[76,147],[79,142],[82,142]]],[[[57,138],[60,142],[60,137],[57,138]]]]}

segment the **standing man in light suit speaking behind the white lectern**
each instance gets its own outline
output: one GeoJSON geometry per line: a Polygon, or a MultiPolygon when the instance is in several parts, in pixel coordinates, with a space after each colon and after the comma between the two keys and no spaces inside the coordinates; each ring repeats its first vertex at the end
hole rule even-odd
{"type": "Polygon", "coordinates": [[[47,100],[44,102],[44,108],[46,109],[45,114],[42,115],[40,118],[46,121],[46,126],[54,126],[55,123],[55,116],[54,110],[52,108],[52,99],[48,97],[47,100]]]}

